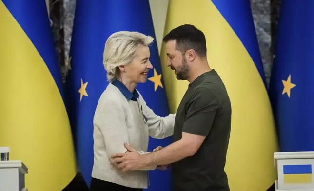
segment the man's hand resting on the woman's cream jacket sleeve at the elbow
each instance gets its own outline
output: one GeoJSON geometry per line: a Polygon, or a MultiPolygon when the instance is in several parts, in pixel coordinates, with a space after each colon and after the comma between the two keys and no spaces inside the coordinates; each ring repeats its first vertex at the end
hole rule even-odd
{"type": "Polygon", "coordinates": [[[113,154],[111,162],[122,172],[144,168],[146,166],[144,156],[140,155],[129,144],[124,143],[124,146],[129,152],[113,154]]]}

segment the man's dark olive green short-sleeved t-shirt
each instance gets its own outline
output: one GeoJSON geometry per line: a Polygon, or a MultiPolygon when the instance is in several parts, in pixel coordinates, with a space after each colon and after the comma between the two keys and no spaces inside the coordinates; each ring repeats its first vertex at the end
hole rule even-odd
{"type": "Polygon", "coordinates": [[[213,69],[189,85],[177,109],[174,141],[182,132],[206,138],[193,156],[172,165],[174,191],[229,191],[224,167],[230,128],[230,99],[213,69]]]}

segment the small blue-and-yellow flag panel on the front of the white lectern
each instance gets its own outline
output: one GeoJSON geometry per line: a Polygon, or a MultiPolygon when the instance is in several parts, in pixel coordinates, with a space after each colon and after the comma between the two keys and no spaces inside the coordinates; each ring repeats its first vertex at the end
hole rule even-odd
{"type": "Polygon", "coordinates": [[[283,165],[284,183],[312,183],[312,165],[283,165]]]}

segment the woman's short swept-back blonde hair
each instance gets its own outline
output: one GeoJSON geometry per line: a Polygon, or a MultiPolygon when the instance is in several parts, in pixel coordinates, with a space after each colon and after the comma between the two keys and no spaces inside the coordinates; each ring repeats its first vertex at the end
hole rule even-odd
{"type": "Polygon", "coordinates": [[[107,71],[107,80],[118,79],[118,66],[132,62],[140,45],[149,45],[154,41],[151,36],[138,32],[120,31],[112,34],[106,41],[103,51],[103,65],[107,71]]]}

